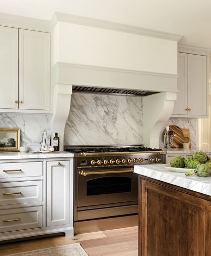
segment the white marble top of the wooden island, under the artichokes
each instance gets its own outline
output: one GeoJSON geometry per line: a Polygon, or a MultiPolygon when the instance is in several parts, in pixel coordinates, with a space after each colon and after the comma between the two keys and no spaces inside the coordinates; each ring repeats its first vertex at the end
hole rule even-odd
{"type": "Polygon", "coordinates": [[[211,176],[206,178],[196,175],[186,177],[184,173],[170,172],[164,168],[164,165],[135,165],[134,173],[211,196],[211,176]]]}

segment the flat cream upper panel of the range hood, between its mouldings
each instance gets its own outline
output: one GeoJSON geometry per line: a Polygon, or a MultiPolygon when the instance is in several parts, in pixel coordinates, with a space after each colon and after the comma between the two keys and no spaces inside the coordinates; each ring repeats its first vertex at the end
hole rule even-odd
{"type": "Polygon", "coordinates": [[[53,37],[54,64],[177,74],[177,41],[65,22],[53,37]]]}

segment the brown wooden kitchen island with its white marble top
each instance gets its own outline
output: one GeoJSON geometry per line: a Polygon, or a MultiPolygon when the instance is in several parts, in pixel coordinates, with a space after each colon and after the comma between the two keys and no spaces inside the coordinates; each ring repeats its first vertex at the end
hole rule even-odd
{"type": "Polygon", "coordinates": [[[138,255],[211,255],[211,176],[136,165],[139,175],[138,255]]]}

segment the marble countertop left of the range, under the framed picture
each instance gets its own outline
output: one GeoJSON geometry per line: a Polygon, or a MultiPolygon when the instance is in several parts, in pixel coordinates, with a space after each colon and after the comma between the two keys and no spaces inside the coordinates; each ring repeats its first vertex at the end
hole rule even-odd
{"type": "Polygon", "coordinates": [[[59,157],[73,157],[73,153],[69,152],[58,152],[58,153],[21,153],[21,152],[1,152],[1,160],[11,159],[37,159],[37,158],[59,158],[59,157]]]}

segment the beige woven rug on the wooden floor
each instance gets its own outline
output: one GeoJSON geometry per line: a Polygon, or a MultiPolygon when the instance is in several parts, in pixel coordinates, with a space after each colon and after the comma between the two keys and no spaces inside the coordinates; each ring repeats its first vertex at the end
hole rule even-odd
{"type": "Polygon", "coordinates": [[[81,247],[80,243],[50,247],[40,250],[30,250],[20,253],[9,254],[7,256],[88,256],[86,251],[81,247]]]}

